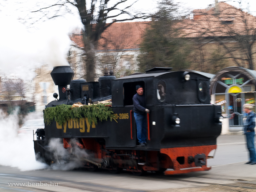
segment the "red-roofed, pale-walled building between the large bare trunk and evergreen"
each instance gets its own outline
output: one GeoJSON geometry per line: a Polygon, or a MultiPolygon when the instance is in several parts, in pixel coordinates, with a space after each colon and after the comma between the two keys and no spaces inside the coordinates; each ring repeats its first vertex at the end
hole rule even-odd
{"type": "MultiPolygon", "coordinates": [[[[96,76],[101,76],[105,66],[113,66],[116,76],[125,76],[137,71],[136,57],[142,35],[148,22],[123,22],[111,24],[101,35],[96,49],[96,76]]],[[[84,47],[82,36],[71,39],[84,47]]]]}

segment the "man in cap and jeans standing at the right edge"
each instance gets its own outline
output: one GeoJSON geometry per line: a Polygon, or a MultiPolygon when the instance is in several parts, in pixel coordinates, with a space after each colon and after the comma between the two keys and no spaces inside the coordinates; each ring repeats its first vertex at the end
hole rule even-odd
{"type": "Polygon", "coordinates": [[[254,127],[255,127],[255,113],[251,110],[252,104],[244,104],[243,106],[243,111],[245,113],[248,113],[248,116],[246,118],[246,121],[244,123],[244,134],[246,136],[246,142],[247,142],[247,148],[249,150],[250,154],[250,161],[248,161],[245,164],[251,164],[255,165],[256,164],[256,153],[255,153],[255,148],[254,148],[254,127]]]}

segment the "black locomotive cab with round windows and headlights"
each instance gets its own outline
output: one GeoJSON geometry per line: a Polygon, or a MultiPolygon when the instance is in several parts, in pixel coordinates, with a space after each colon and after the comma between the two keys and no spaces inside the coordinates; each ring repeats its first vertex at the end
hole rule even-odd
{"type": "MultiPolygon", "coordinates": [[[[112,108],[117,111],[116,117],[120,119],[118,123],[123,121],[119,117],[121,109],[130,113],[132,119],[131,137],[126,136],[129,146],[131,138],[136,138],[132,96],[136,93],[135,86],[138,84],[144,89],[146,108],[150,110],[148,148],[216,144],[216,138],[221,132],[221,122],[218,119],[220,108],[210,103],[209,76],[188,70],[163,72],[162,68],[153,68],[146,71],[146,74],[118,78],[111,83],[112,108]],[[186,75],[189,78],[185,79],[186,75]]],[[[122,127],[117,131],[120,133],[116,134],[128,134],[129,127],[122,127]]],[[[118,140],[116,144],[123,146],[118,140]]],[[[132,146],[137,144],[136,141],[132,142],[132,146]]]]}

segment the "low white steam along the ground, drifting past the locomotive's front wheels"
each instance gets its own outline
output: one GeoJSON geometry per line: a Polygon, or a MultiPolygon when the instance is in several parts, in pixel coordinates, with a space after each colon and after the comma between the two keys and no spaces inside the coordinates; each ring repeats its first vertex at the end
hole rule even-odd
{"type": "MultiPolygon", "coordinates": [[[[25,120],[40,119],[42,113],[30,113],[25,120]]],[[[18,135],[19,118],[17,112],[6,115],[0,110],[0,165],[18,167],[21,171],[36,169],[54,169],[54,170],[72,170],[83,167],[80,158],[87,158],[88,155],[84,149],[76,145],[77,140],[70,140],[69,144],[73,146],[72,156],[68,149],[63,147],[62,139],[54,138],[49,142],[49,150],[59,158],[58,162],[48,166],[47,164],[36,161],[33,135],[18,135]]],[[[36,139],[36,135],[35,135],[36,139]]]]}

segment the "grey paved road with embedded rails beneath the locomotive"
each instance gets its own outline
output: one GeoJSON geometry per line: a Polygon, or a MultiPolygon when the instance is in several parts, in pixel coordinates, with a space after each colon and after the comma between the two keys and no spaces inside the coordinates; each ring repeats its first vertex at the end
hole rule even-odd
{"type": "MultiPolygon", "coordinates": [[[[218,138],[218,149],[214,159],[208,160],[212,169],[207,172],[193,172],[189,175],[177,176],[134,176],[124,172],[110,174],[107,171],[88,172],[84,169],[61,171],[52,169],[21,172],[18,168],[0,166],[0,192],[13,191],[100,191],[100,192],[128,192],[128,191],[228,191],[229,188],[203,183],[184,182],[182,180],[210,182],[228,185],[238,185],[231,180],[210,180],[207,178],[224,178],[232,180],[256,181],[256,165],[246,165],[247,151],[243,135],[221,135],[218,138]],[[196,176],[196,177],[191,177],[196,176]],[[207,177],[207,178],[202,178],[207,177]],[[19,179],[15,179],[19,178],[19,179]],[[178,179],[178,180],[177,180],[178,179]],[[58,186],[40,186],[34,188],[17,188],[3,185],[7,182],[51,182],[58,186]],[[2,183],[2,184],[1,184],[2,183]],[[216,189],[217,188],[217,189],[216,189]]],[[[251,184],[253,185],[253,184],[251,184]]],[[[256,185],[255,185],[256,187],[256,185]]],[[[230,191],[233,189],[230,188],[230,191]]],[[[234,189],[234,191],[236,191],[234,189]]],[[[245,191],[245,189],[240,189],[245,191]]],[[[250,191],[250,189],[246,189],[250,191]]],[[[255,189],[254,189],[255,191],[255,189]]]]}

